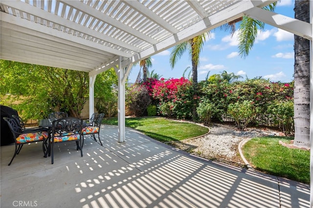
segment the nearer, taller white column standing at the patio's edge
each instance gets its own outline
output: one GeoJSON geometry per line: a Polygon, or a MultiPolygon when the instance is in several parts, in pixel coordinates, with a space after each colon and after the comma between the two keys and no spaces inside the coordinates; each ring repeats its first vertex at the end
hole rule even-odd
{"type": "MultiPolygon", "coordinates": [[[[116,68],[115,68],[116,71],[116,68]]],[[[117,69],[118,79],[118,142],[125,142],[125,82],[124,81],[124,68],[122,67],[122,58],[119,59],[117,69]]]]}

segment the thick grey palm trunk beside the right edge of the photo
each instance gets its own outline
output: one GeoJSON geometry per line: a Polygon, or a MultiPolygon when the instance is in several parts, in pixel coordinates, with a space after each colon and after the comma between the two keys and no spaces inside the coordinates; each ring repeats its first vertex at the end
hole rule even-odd
{"type": "MultiPolygon", "coordinates": [[[[295,0],[294,18],[310,22],[310,1],[295,0]]],[[[294,146],[310,147],[310,41],[294,35],[294,146]]]]}

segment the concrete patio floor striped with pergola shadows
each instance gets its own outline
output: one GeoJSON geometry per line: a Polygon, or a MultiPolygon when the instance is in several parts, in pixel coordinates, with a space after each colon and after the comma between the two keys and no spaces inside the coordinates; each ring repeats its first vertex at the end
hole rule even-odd
{"type": "Polygon", "coordinates": [[[37,208],[309,208],[310,186],[189,155],[126,128],[103,125],[103,146],[85,136],[55,147],[1,146],[0,207],[37,208]]]}

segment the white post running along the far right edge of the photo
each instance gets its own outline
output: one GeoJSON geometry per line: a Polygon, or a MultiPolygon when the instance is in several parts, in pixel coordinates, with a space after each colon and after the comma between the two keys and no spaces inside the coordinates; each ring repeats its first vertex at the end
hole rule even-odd
{"type": "MultiPolygon", "coordinates": [[[[313,34],[313,2],[310,0],[310,23],[313,34]]],[[[313,208],[313,42],[310,40],[310,208],[313,208]]]]}

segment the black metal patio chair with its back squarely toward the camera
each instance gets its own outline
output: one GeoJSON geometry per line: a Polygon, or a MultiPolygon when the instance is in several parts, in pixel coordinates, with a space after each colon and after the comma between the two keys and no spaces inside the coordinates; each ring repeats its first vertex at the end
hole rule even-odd
{"type": "Polygon", "coordinates": [[[49,156],[51,151],[51,164],[53,164],[54,144],[61,142],[75,141],[77,150],[80,149],[83,157],[83,135],[82,135],[83,120],[74,117],[66,117],[52,122],[51,140],[49,141],[51,149],[49,148],[49,156]]]}

